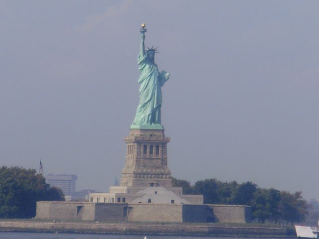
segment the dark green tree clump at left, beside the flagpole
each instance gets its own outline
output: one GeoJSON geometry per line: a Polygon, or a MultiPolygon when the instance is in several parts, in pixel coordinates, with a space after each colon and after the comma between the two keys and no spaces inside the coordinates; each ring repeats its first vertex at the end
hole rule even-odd
{"type": "Polygon", "coordinates": [[[0,218],[32,218],[37,201],[64,201],[64,195],[35,169],[0,168],[0,218]]]}

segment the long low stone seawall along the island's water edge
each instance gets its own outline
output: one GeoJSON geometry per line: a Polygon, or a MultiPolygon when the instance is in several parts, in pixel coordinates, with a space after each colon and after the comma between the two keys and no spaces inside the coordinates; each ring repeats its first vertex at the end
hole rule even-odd
{"type": "Polygon", "coordinates": [[[0,231],[263,238],[295,236],[293,230],[284,228],[34,221],[0,221],[0,231]]]}

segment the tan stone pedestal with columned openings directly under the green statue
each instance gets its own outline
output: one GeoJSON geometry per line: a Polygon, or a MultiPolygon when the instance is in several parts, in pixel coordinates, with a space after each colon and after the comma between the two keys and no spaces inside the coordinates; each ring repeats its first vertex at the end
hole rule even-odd
{"type": "Polygon", "coordinates": [[[167,167],[164,129],[130,130],[126,142],[126,163],[122,170],[120,186],[171,188],[170,170],[167,167]]]}

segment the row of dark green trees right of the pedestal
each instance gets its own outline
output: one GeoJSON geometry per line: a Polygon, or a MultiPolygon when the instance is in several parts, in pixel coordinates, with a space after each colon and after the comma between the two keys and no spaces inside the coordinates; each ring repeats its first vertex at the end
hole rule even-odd
{"type": "Polygon", "coordinates": [[[274,188],[260,188],[253,182],[221,182],[205,179],[194,185],[186,180],[171,178],[173,187],[182,187],[183,194],[202,194],[204,204],[232,204],[251,206],[252,218],[258,223],[298,223],[308,214],[302,192],[290,193],[274,188]]]}

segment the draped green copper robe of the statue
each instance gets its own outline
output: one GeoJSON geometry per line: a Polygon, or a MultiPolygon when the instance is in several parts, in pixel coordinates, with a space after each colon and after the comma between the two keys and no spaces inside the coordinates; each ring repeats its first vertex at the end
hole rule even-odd
{"type": "Polygon", "coordinates": [[[157,64],[147,58],[147,55],[138,56],[140,103],[136,111],[133,124],[160,124],[161,89],[166,81],[164,71],[159,73],[157,64]]]}

